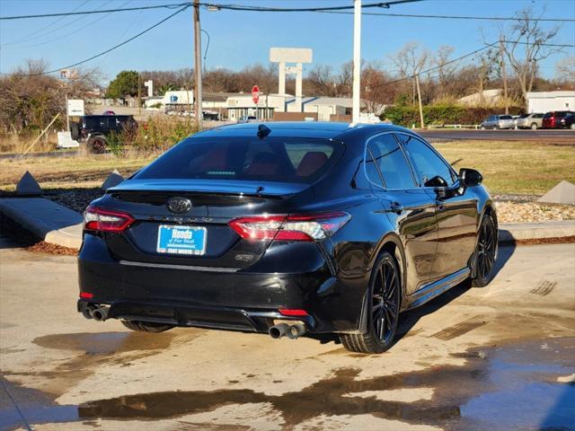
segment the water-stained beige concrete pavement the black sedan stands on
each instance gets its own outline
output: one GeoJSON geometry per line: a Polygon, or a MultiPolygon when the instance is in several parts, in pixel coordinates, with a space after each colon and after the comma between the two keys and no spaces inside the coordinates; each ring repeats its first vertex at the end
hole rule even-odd
{"type": "Polygon", "coordinates": [[[0,249],[0,429],[575,427],[574,244],[501,249],[489,287],[404,314],[380,356],[86,321],[74,258],[0,249]]]}

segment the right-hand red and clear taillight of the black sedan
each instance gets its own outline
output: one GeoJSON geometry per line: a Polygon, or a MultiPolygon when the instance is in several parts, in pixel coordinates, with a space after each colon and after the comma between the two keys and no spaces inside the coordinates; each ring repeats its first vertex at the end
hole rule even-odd
{"type": "Polygon", "coordinates": [[[321,241],[338,232],[349,222],[348,213],[332,213],[292,216],[254,216],[236,218],[230,222],[246,240],[321,241]]]}

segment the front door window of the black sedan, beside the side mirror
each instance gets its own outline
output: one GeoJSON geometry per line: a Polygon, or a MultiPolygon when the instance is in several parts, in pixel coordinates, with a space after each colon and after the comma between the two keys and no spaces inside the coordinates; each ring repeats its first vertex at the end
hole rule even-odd
{"type": "Polygon", "coordinates": [[[399,136],[403,140],[403,147],[411,157],[411,163],[422,186],[425,187],[426,182],[436,176],[446,180],[447,186],[452,186],[456,182],[456,173],[429,145],[414,136],[399,136]]]}

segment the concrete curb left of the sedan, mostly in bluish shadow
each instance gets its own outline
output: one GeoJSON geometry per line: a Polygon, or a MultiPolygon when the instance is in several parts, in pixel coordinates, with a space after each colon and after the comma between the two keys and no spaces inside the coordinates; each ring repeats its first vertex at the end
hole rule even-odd
{"type": "Polygon", "coordinates": [[[45,242],[79,249],[82,216],[46,198],[0,198],[0,213],[45,242]]]}

